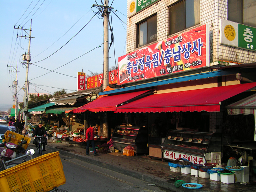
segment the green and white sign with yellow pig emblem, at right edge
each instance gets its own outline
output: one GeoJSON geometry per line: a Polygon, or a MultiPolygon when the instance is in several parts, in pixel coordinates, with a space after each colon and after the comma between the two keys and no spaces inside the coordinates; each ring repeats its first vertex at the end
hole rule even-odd
{"type": "Polygon", "coordinates": [[[220,19],[220,44],[256,51],[256,28],[220,19]]]}

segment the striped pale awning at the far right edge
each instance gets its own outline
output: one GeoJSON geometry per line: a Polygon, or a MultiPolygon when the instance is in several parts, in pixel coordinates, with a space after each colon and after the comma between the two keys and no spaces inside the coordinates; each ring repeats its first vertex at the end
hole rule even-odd
{"type": "Polygon", "coordinates": [[[240,101],[232,103],[226,106],[226,108],[228,110],[228,115],[254,114],[254,109],[256,109],[256,93],[240,101]]]}

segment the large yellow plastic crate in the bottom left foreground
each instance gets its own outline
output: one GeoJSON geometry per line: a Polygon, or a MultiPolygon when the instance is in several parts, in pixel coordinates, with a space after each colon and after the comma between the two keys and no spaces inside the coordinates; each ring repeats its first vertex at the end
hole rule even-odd
{"type": "Polygon", "coordinates": [[[46,192],[65,182],[58,151],[0,172],[0,192],[46,192]]]}

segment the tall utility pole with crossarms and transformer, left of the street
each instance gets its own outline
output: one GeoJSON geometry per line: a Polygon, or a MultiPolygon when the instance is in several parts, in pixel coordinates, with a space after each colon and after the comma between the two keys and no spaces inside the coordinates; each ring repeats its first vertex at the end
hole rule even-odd
{"type": "MultiPolygon", "coordinates": [[[[31,22],[30,22],[30,29],[24,29],[23,27],[20,28],[20,26],[18,28],[15,28],[14,26],[14,29],[21,29],[21,30],[24,30],[27,33],[27,31],[29,31],[29,34],[28,34],[28,38],[29,38],[29,41],[28,41],[28,53],[26,54],[23,54],[22,55],[22,60],[23,61],[27,61],[27,62],[24,62],[27,64],[27,71],[26,71],[26,81],[25,81],[25,93],[24,93],[24,107],[26,107],[28,105],[28,68],[29,68],[29,62],[31,61],[31,56],[30,56],[30,42],[31,42],[31,38],[35,38],[35,37],[31,37],[31,26],[32,26],[32,19],[31,19],[31,22]]],[[[27,37],[26,35],[23,36],[18,36],[17,34],[17,38],[18,37],[27,37]]],[[[27,125],[27,122],[28,122],[28,116],[26,116],[26,111],[24,111],[24,115],[23,115],[23,120],[25,120],[25,125],[27,125]]]]}

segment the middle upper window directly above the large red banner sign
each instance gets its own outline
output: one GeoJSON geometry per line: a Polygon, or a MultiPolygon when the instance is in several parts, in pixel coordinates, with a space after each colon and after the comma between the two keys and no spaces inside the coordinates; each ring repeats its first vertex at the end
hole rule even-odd
{"type": "Polygon", "coordinates": [[[199,24],[199,0],[185,0],[170,7],[170,35],[199,24]]]}

